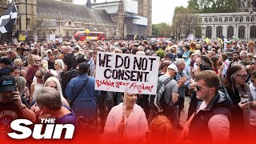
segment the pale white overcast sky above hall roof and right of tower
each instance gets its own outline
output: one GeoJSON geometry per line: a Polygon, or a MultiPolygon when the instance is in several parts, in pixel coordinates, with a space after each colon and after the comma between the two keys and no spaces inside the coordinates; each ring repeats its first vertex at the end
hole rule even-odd
{"type": "MultiPolygon", "coordinates": [[[[107,0],[107,2],[116,0],[107,0]]],[[[170,24],[174,16],[176,6],[187,6],[188,0],[152,0],[152,21],[153,24],[166,22],[170,24]]],[[[86,0],[74,0],[75,4],[86,4],[86,0]]],[[[91,0],[94,2],[94,0],[91,0]]],[[[106,0],[96,0],[96,2],[106,2],[106,0]]]]}

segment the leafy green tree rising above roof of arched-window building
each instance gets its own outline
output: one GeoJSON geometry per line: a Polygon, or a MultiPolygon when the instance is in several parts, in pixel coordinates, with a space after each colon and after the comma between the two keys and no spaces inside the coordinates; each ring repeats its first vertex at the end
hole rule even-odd
{"type": "Polygon", "coordinates": [[[189,0],[188,8],[199,13],[233,13],[238,11],[238,0],[189,0]]]}

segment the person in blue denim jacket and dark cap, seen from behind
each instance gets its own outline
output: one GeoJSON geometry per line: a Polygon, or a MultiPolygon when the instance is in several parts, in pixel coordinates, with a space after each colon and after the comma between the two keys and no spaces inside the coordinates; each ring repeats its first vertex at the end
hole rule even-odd
{"type": "Polygon", "coordinates": [[[77,116],[94,118],[96,116],[96,97],[100,91],[94,90],[95,78],[88,75],[90,64],[82,62],[78,67],[78,76],[72,78],[66,86],[66,97],[73,104],[70,107],[77,116]]]}

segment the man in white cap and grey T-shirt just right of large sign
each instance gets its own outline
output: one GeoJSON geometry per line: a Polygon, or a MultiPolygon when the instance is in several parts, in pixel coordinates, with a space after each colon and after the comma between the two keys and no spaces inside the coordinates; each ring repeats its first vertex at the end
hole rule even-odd
{"type": "Polygon", "coordinates": [[[171,78],[170,82],[166,83],[164,99],[166,103],[169,103],[169,106],[166,111],[162,113],[155,113],[150,109],[150,116],[148,118],[149,123],[157,117],[159,114],[165,115],[167,118],[173,122],[174,127],[178,124],[178,106],[175,106],[175,103],[178,101],[178,84],[174,80],[174,76],[178,73],[178,68],[174,64],[170,64],[167,67],[166,74],[158,78],[159,81],[164,82],[167,78],[171,78]],[[167,102],[168,101],[168,102],[167,102]]]}

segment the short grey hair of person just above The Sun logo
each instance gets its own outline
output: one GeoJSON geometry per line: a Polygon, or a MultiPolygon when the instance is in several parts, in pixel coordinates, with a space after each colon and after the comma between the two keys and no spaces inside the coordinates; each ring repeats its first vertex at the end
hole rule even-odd
{"type": "Polygon", "coordinates": [[[57,90],[49,86],[42,87],[35,92],[35,101],[39,107],[46,107],[49,110],[60,110],[62,108],[62,98],[57,90]]]}

